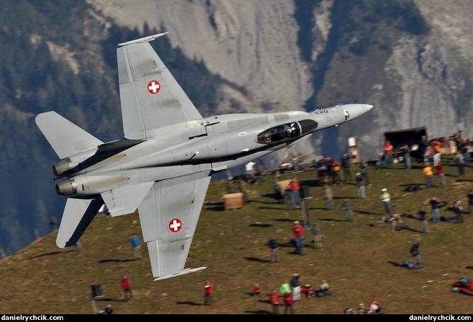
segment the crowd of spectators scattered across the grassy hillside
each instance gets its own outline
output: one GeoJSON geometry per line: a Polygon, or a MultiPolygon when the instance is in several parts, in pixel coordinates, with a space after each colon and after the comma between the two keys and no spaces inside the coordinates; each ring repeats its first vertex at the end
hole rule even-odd
{"type": "MultiPolygon", "coordinates": [[[[426,141],[426,138],[423,138],[423,142],[426,141]]],[[[445,153],[445,149],[440,140],[431,140],[426,141],[420,144],[420,148],[423,153],[421,154],[424,160],[422,160],[423,167],[422,167],[422,174],[424,174],[425,179],[425,189],[429,189],[431,187],[445,186],[445,174],[443,172],[443,163],[442,163],[442,155],[445,153]],[[438,179],[436,181],[433,180],[434,176],[438,179]]],[[[454,158],[456,165],[458,167],[458,177],[462,177],[465,175],[465,165],[469,165],[472,162],[472,158],[470,157],[471,148],[467,148],[469,143],[468,140],[461,138],[461,136],[455,136],[455,143],[457,150],[455,151],[454,158]],[[464,153],[464,151],[468,151],[468,153],[464,153]]],[[[406,169],[411,169],[411,147],[404,146],[402,147],[402,155],[406,169]]],[[[386,141],[384,145],[384,164],[380,164],[380,166],[389,166],[392,165],[393,162],[393,155],[394,155],[394,148],[390,141],[386,141]]],[[[358,198],[364,199],[366,198],[366,186],[371,185],[368,179],[368,162],[366,160],[361,160],[356,167],[351,165],[351,160],[349,160],[349,156],[344,154],[341,157],[341,160],[334,160],[330,157],[318,157],[317,162],[313,163],[313,166],[317,169],[317,182],[320,186],[320,196],[323,198],[325,203],[325,208],[327,210],[334,210],[334,191],[332,190],[332,186],[335,187],[339,184],[344,182],[350,183],[355,182],[356,184],[356,191],[358,198]],[[355,170],[356,169],[356,170],[355,170]],[[355,170],[355,171],[354,171],[355,170]],[[352,171],[354,171],[354,175],[352,175],[352,171]],[[340,174],[343,175],[340,175],[340,174]]],[[[300,183],[296,178],[288,180],[288,183],[284,186],[280,184],[280,176],[279,174],[274,174],[274,193],[275,198],[278,200],[286,201],[288,204],[288,209],[296,209],[298,208],[299,203],[302,202],[303,197],[300,194],[300,183]]],[[[465,209],[463,208],[462,198],[457,198],[453,201],[453,211],[455,213],[456,222],[462,223],[463,221],[463,213],[468,211],[468,213],[472,213],[473,211],[473,190],[469,189],[466,194],[467,197],[467,205],[465,209]]],[[[395,220],[398,216],[397,214],[393,213],[391,207],[391,195],[390,191],[386,188],[381,189],[379,195],[380,205],[382,205],[382,209],[385,213],[385,218],[387,218],[387,222],[391,222],[393,219],[395,220]]],[[[246,201],[246,200],[245,200],[246,201]]],[[[419,216],[419,220],[421,222],[421,232],[424,234],[428,234],[430,232],[428,223],[431,222],[435,224],[436,222],[440,222],[442,217],[440,217],[439,210],[441,208],[441,201],[436,197],[432,196],[428,203],[424,203],[419,208],[417,215],[419,216]],[[431,219],[428,220],[428,208],[431,209],[431,219]]],[[[354,222],[354,215],[351,209],[351,201],[349,198],[345,197],[341,201],[341,209],[343,210],[345,220],[347,222],[354,222]]],[[[304,227],[303,223],[296,220],[293,222],[293,227],[291,228],[291,233],[293,236],[293,246],[294,251],[293,254],[304,256],[305,255],[305,239],[304,239],[304,231],[310,230],[313,239],[310,242],[313,242],[315,249],[322,248],[322,231],[320,225],[317,222],[313,223],[310,227],[304,227]]],[[[133,256],[135,259],[141,258],[141,243],[139,241],[139,237],[136,234],[132,234],[130,237],[130,243],[132,244],[132,251],[133,256]]],[[[267,246],[269,248],[269,262],[277,263],[279,262],[279,241],[276,239],[275,235],[271,235],[267,242],[267,246]]],[[[421,257],[420,257],[420,244],[419,242],[414,242],[411,244],[409,249],[409,254],[411,255],[411,260],[404,262],[404,264],[409,268],[423,268],[421,264],[421,257]]],[[[125,275],[121,281],[122,290],[124,292],[124,299],[125,301],[129,300],[133,296],[131,283],[129,279],[125,275]]],[[[300,301],[301,299],[312,299],[314,297],[324,297],[325,295],[332,294],[332,290],[330,289],[326,280],[321,280],[318,287],[313,287],[313,284],[309,281],[305,283],[300,282],[300,275],[298,273],[293,273],[291,279],[285,280],[279,290],[272,289],[269,293],[264,293],[265,285],[260,285],[256,283],[252,287],[252,296],[253,297],[262,297],[264,294],[269,296],[268,303],[271,304],[271,313],[272,314],[279,314],[280,306],[284,306],[284,314],[293,314],[294,313],[294,303],[300,301]]],[[[271,289],[271,287],[268,287],[271,289]]],[[[212,294],[213,294],[213,285],[209,280],[204,281],[204,304],[206,306],[211,306],[212,302],[212,294]]],[[[107,313],[112,313],[113,309],[110,306],[108,308],[107,313]]],[[[381,314],[383,313],[384,308],[381,307],[381,304],[378,301],[370,302],[368,306],[364,306],[364,304],[359,304],[358,309],[346,309],[344,312],[346,314],[381,314]]]]}

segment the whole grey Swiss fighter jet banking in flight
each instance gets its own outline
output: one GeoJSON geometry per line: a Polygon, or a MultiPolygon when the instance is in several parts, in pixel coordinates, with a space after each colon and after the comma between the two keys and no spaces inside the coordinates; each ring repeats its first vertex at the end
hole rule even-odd
{"type": "Polygon", "coordinates": [[[149,44],[167,33],[118,44],[124,138],[103,143],[53,111],[35,119],[60,159],[52,166],[56,192],[67,197],[57,246],[74,246],[99,210],[119,216],[138,209],[155,280],[205,268],[185,263],[212,174],[373,108],[203,118],[149,44]]]}

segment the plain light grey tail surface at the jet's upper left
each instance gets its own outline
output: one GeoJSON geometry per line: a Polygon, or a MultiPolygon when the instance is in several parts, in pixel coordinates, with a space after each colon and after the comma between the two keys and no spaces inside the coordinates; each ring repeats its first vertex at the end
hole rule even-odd
{"type": "Polygon", "coordinates": [[[103,144],[98,138],[84,131],[56,112],[38,114],[36,125],[59,158],[93,150],[103,144]]]}

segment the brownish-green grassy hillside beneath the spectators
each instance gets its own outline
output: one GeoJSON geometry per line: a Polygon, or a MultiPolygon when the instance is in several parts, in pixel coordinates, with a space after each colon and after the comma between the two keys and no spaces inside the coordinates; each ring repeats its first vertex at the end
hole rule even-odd
{"type": "MultiPolygon", "coordinates": [[[[153,282],[146,248],[144,258],[132,260],[129,235],[137,232],[141,237],[136,213],[96,217],[81,238],[82,251],[58,249],[57,232],[52,232],[0,261],[4,287],[0,311],[91,314],[90,285],[99,284],[105,300],[96,302],[98,309],[110,302],[116,314],[264,314],[271,311],[267,303],[271,289],[279,290],[292,273],[299,273],[302,284],[316,286],[327,280],[332,295],[301,299],[294,304],[296,314],[341,314],[374,299],[385,306],[387,314],[473,314],[472,298],[453,293],[450,287],[463,275],[473,278],[473,215],[465,215],[463,224],[429,223],[430,234],[421,234],[415,218],[404,217],[408,229],[395,232],[389,224],[370,225],[383,216],[378,197],[384,187],[392,194],[396,213],[410,210],[416,214],[431,196],[448,201],[440,210],[445,217],[453,215],[449,207],[455,198],[467,205],[473,169],[467,167],[467,175],[458,178],[450,157],[444,159],[447,186],[443,189],[404,191],[408,184],[424,183],[419,164],[409,170],[402,164],[373,166],[368,170],[372,185],[366,189],[366,199],[357,198],[354,182],[332,186],[334,210],[325,210],[313,169],[283,174],[281,179],[297,177],[302,185],[310,186],[310,222],[318,222],[325,236],[323,248],[313,249],[310,231],[306,231],[305,256],[294,255],[289,244],[293,221],[301,219],[301,211],[288,210],[285,203],[273,198],[271,175],[261,184],[247,184],[250,203],[238,210],[223,210],[225,182],[211,184],[187,259],[189,268],[207,267],[198,273],[153,282]],[[351,198],[354,222],[344,220],[344,196],[351,198]],[[269,262],[271,234],[281,243],[279,263],[269,262]],[[410,259],[413,241],[421,245],[422,270],[400,266],[410,259]],[[129,302],[122,301],[119,287],[125,274],[134,290],[129,302]],[[213,306],[203,305],[206,278],[214,283],[213,306]],[[255,283],[262,286],[260,298],[250,296],[255,283]]],[[[352,172],[357,172],[356,165],[352,172]]]]}

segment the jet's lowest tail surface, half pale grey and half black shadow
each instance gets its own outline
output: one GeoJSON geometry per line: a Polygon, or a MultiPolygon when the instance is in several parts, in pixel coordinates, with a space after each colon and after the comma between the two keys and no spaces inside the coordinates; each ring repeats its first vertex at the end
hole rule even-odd
{"type": "Polygon", "coordinates": [[[86,231],[98,210],[103,205],[102,199],[67,198],[62,214],[61,225],[57,232],[56,244],[59,248],[74,246],[86,231]]]}

